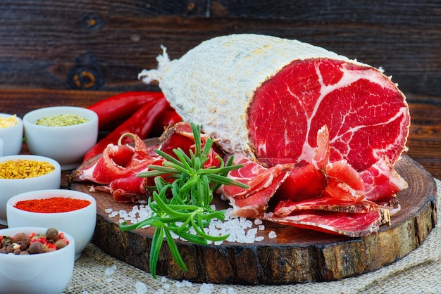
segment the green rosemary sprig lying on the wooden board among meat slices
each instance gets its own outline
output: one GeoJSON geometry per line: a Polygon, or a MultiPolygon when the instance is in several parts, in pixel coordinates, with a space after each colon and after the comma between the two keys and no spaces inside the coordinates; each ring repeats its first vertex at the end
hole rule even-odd
{"type": "Polygon", "coordinates": [[[194,152],[189,151],[190,156],[181,148],[173,149],[176,158],[156,149],[156,153],[165,159],[162,165],[150,165],[148,172],[137,174],[137,177],[155,177],[153,199],[149,198],[151,216],[137,224],[120,224],[122,231],[140,229],[147,225],[156,226],[149,260],[150,273],[154,278],[164,238],[175,262],[182,270],[187,271],[172,232],[187,241],[201,245],[206,245],[208,241],[223,241],[228,238],[229,235],[210,236],[204,230],[209,226],[211,219],[225,218],[225,210],[213,210],[210,206],[213,192],[223,184],[248,188],[246,184],[227,177],[228,172],[242,167],[233,165],[232,157],[226,164],[222,158],[217,157],[221,162],[220,167],[206,168],[204,165],[209,160],[213,140],[207,139],[202,148],[200,127],[192,124],[192,132],[195,147],[194,152]],[[174,180],[170,183],[166,179],[174,180]]]}

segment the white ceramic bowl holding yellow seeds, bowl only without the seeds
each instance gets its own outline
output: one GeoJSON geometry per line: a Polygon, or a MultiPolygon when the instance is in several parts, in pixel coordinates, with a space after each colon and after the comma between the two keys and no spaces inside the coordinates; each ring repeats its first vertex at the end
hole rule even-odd
{"type": "Polygon", "coordinates": [[[0,158],[0,162],[9,160],[35,160],[38,162],[49,162],[55,170],[39,177],[27,179],[0,179],[0,224],[7,225],[6,221],[6,203],[9,198],[20,193],[35,190],[45,190],[60,188],[61,185],[61,167],[52,158],[46,158],[38,155],[11,155],[0,158]]]}

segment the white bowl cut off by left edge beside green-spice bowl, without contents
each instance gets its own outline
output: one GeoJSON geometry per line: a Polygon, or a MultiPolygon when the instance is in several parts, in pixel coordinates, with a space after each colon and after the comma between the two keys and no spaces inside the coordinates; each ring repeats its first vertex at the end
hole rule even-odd
{"type": "MultiPolygon", "coordinates": [[[[0,113],[0,117],[11,117],[12,115],[0,113]]],[[[0,139],[3,139],[3,155],[17,155],[23,145],[23,120],[17,117],[17,124],[11,127],[0,128],[0,139]]]]}

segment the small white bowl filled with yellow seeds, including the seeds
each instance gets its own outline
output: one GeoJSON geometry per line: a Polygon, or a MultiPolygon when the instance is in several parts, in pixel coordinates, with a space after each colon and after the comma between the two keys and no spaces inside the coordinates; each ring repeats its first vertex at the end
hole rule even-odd
{"type": "Polygon", "coordinates": [[[6,203],[28,191],[60,188],[61,167],[52,158],[10,155],[0,158],[0,224],[7,225],[6,203]]]}

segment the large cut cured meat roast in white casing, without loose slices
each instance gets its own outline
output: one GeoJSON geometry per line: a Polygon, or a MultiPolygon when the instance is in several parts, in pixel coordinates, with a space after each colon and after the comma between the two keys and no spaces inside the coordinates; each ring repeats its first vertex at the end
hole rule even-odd
{"type": "MultiPolygon", "coordinates": [[[[315,156],[327,125],[330,160],[362,171],[406,149],[410,116],[404,94],[380,70],[296,40],[233,34],[204,41],[179,60],[165,52],[159,81],[183,120],[251,158],[299,165],[315,156]]],[[[305,163],[306,162],[306,163],[305,163]]]]}

